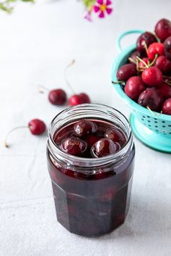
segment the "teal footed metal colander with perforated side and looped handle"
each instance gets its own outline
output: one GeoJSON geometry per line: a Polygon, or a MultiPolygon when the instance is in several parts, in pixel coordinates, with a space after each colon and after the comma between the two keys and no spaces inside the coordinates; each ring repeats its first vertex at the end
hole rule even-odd
{"type": "MultiPolygon", "coordinates": [[[[135,50],[135,44],[122,49],[121,39],[130,33],[143,32],[143,30],[129,30],[117,38],[117,49],[120,51],[120,54],[114,59],[112,65],[112,81],[117,80],[118,68],[128,62],[130,53],[135,50]]],[[[130,99],[120,84],[114,84],[113,87],[120,98],[131,108],[130,125],[137,139],[152,149],[171,153],[171,116],[159,115],[157,112],[151,113],[145,107],[130,99]]]]}

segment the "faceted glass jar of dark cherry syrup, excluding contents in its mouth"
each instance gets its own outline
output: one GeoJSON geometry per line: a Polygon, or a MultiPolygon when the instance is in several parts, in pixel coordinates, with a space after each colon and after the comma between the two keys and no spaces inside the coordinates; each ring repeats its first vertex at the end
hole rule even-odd
{"type": "Polygon", "coordinates": [[[124,223],[130,205],[135,146],[128,120],[101,104],[70,107],[54,117],[47,141],[48,169],[57,220],[81,236],[100,236],[124,223]],[[100,158],[75,157],[54,143],[57,131],[75,120],[104,120],[125,134],[125,146],[100,158]]]}

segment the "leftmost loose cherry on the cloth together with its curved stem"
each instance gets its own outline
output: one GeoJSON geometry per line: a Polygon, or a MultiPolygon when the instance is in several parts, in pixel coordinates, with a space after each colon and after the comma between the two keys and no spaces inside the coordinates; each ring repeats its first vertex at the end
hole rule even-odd
{"type": "Polygon", "coordinates": [[[6,139],[4,141],[4,146],[9,147],[9,144],[7,144],[7,139],[9,137],[9,134],[15,130],[21,129],[21,128],[29,128],[30,132],[33,135],[41,135],[42,133],[44,133],[46,131],[46,125],[43,121],[41,121],[39,119],[30,120],[28,125],[19,126],[19,127],[13,128],[11,131],[9,131],[9,133],[7,133],[6,139]]]}

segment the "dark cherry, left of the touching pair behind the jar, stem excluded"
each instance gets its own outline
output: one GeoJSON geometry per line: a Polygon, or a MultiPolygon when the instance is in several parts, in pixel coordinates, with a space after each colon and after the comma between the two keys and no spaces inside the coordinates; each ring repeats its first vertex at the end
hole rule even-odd
{"type": "Polygon", "coordinates": [[[62,89],[54,89],[49,92],[49,102],[54,105],[63,105],[67,101],[67,94],[62,89]]]}

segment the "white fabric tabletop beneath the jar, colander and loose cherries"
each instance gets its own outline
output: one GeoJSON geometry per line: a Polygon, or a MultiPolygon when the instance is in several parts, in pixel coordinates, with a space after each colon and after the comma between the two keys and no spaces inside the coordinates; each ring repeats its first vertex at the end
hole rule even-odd
{"type": "MultiPolygon", "coordinates": [[[[88,23],[75,0],[21,4],[12,15],[0,12],[0,134],[33,117],[50,123],[54,107],[36,86],[63,87],[65,65],[75,58],[70,81],[93,102],[129,115],[110,83],[115,41],[123,30],[152,30],[170,18],[171,1],[115,0],[106,20],[88,23]]],[[[126,46],[135,36],[126,38],[126,46]]],[[[135,139],[135,175],[125,224],[107,236],[75,236],[57,223],[49,173],[46,136],[29,131],[10,136],[0,148],[0,256],[169,256],[171,255],[171,161],[135,139]]]]}

